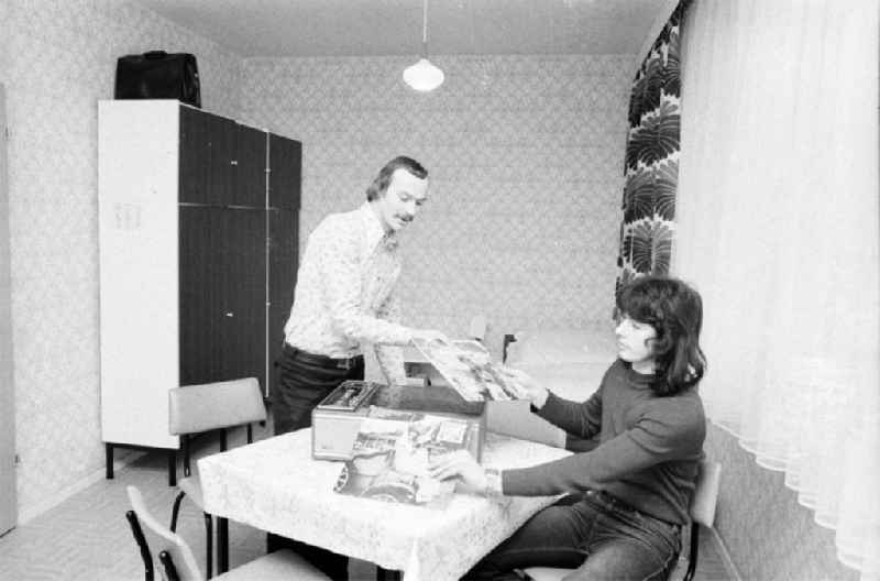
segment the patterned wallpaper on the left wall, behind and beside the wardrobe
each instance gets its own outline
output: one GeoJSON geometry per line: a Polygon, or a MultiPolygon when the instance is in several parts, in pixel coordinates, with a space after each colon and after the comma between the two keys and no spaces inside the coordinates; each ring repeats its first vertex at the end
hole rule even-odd
{"type": "Polygon", "coordinates": [[[2,4],[18,492],[26,518],[103,467],[97,100],[112,98],[116,59],[156,47],[195,53],[205,109],[227,116],[239,110],[241,61],[127,2],[2,4]]]}

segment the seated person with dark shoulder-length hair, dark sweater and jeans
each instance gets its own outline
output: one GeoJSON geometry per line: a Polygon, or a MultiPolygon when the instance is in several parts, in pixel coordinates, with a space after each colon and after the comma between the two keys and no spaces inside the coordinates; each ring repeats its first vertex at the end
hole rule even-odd
{"type": "Polygon", "coordinates": [[[484,469],[448,454],[432,475],[487,495],[566,494],[474,566],[466,580],[520,580],[519,569],[575,569],[565,580],[663,580],[681,551],[706,420],[697,393],[700,295],[681,281],[645,276],[618,297],[618,359],[586,402],[562,399],[520,372],[539,416],[600,445],[544,464],[484,469]]]}

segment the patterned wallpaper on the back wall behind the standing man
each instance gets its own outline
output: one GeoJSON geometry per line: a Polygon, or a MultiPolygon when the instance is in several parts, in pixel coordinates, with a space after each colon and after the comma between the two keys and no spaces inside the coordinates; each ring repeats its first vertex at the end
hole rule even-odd
{"type": "Polygon", "coordinates": [[[607,320],[634,57],[436,56],[431,94],[400,80],[410,61],[245,59],[244,119],[302,141],[300,242],[410,155],[431,189],[402,246],[404,322],[463,336],[484,314],[497,353],[505,332],[607,320]]]}

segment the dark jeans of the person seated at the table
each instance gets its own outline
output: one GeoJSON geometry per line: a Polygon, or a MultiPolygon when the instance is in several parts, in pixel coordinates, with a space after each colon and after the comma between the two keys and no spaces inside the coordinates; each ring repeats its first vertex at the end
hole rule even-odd
{"type": "Polygon", "coordinates": [[[532,516],[462,579],[520,581],[516,569],[561,567],[578,569],[571,579],[666,580],[680,551],[681,526],[588,491],[532,516]]]}

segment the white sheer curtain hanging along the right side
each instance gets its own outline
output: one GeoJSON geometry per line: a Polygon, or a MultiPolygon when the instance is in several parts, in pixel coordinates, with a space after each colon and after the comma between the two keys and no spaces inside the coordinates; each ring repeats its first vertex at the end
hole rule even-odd
{"type": "Polygon", "coordinates": [[[878,4],[695,0],[673,272],[714,423],[880,577],[878,4]]]}

